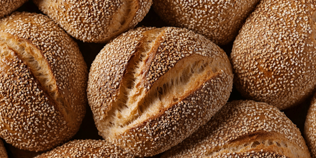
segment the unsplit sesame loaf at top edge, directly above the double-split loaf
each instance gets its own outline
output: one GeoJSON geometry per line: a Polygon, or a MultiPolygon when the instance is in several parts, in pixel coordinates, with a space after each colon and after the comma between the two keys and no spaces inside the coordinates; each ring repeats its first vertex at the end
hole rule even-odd
{"type": "Polygon", "coordinates": [[[153,0],[166,23],[201,34],[215,44],[234,40],[259,0],[153,0]]]}

